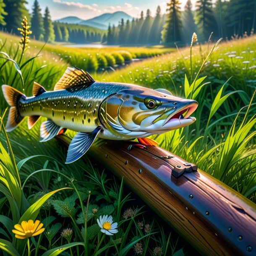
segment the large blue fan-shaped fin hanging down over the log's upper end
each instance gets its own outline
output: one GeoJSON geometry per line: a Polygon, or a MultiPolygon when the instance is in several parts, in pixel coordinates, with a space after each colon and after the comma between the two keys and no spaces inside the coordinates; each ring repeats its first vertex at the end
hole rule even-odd
{"type": "Polygon", "coordinates": [[[91,133],[76,133],[68,147],[66,164],[75,162],[87,152],[87,150],[90,148],[91,144],[93,144],[94,140],[99,134],[100,129],[101,128],[98,126],[91,133]]]}

